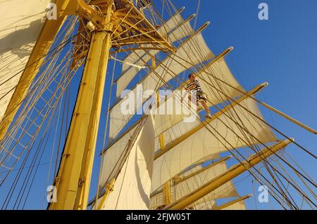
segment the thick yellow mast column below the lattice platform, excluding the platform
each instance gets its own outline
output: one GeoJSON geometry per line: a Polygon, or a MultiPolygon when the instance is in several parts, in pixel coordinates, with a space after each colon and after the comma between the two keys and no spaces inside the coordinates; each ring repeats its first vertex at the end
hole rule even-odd
{"type": "Polygon", "coordinates": [[[51,209],[86,209],[110,46],[109,32],[93,34],[51,209]]]}

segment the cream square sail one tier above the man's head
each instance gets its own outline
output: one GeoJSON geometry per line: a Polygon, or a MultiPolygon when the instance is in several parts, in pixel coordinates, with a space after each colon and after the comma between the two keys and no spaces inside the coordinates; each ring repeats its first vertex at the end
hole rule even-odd
{"type": "MultiPolygon", "coordinates": [[[[154,72],[150,72],[147,74],[144,79],[142,79],[141,83],[143,91],[147,90],[156,90],[158,86],[162,84],[161,79],[164,81],[169,81],[175,75],[184,72],[188,68],[192,67],[192,65],[197,65],[201,62],[209,60],[213,58],[214,55],[206,45],[204,38],[201,33],[195,34],[188,41],[185,41],[178,50],[175,55],[171,55],[170,57],[163,60],[158,67],[154,70],[154,72]],[[185,62],[180,62],[177,58],[183,58],[185,62]],[[169,71],[166,71],[166,67],[169,68],[169,71]]],[[[132,89],[132,93],[135,95],[139,95],[137,92],[137,88],[132,89]]],[[[142,94],[142,93],[141,93],[142,94]]],[[[142,99],[142,103],[146,98],[142,99]]],[[[123,114],[121,111],[121,105],[124,100],[120,100],[114,107],[111,109],[110,114],[110,130],[109,130],[109,138],[114,138],[118,135],[118,133],[123,129],[125,124],[130,120],[133,114],[123,114]]],[[[136,104],[135,100],[135,104],[136,104]]],[[[134,112],[137,112],[139,108],[135,105],[134,112]]]]}

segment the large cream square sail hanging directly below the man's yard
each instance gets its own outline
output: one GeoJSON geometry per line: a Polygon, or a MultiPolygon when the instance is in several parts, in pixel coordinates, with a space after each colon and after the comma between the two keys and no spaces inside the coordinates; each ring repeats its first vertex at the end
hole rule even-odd
{"type": "MultiPolygon", "coordinates": [[[[247,98],[246,100],[243,100],[241,104],[257,116],[262,117],[255,100],[247,98]]],[[[256,136],[262,143],[270,143],[276,140],[275,135],[266,124],[245,112],[239,105],[228,110],[226,114],[230,114],[230,117],[232,117],[237,124],[244,126],[249,133],[256,136]]],[[[183,122],[180,122],[179,124],[183,124],[183,122]]],[[[218,133],[213,131],[210,127],[211,133],[206,128],[200,129],[196,133],[192,133],[189,138],[186,138],[168,152],[161,155],[161,157],[157,158],[154,161],[153,175],[156,176],[156,178],[153,180],[152,190],[158,189],[170,178],[202,158],[212,154],[225,152],[227,151],[227,148],[231,149],[232,147],[230,145],[235,148],[250,145],[249,139],[251,136],[247,131],[242,131],[237,124],[223,114],[210,123],[213,129],[216,129],[218,133]],[[224,124],[220,120],[223,121],[224,124]],[[221,136],[223,136],[228,143],[225,142],[221,136]],[[240,138],[238,136],[240,136],[240,138]]],[[[190,131],[190,129],[188,130],[187,125],[182,125],[181,129],[183,130],[178,133],[166,131],[164,133],[165,143],[168,144],[187,131],[190,131]]],[[[251,145],[259,144],[259,140],[254,138],[251,138],[251,140],[251,145]]]]}

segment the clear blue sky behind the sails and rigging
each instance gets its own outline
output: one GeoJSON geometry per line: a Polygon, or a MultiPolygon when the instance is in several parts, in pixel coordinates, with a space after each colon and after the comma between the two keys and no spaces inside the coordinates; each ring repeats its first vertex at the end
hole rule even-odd
{"type": "MultiPolygon", "coordinates": [[[[186,18],[195,13],[198,0],[173,2],[178,8],[186,6],[182,13],[186,18]]],[[[218,54],[228,46],[235,47],[227,61],[232,73],[244,88],[250,89],[268,81],[270,85],[257,95],[260,100],[317,129],[317,1],[264,1],[269,7],[269,20],[264,21],[258,18],[258,6],[261,2],[263,1],[201,0],[197,27],[211,21],[211,25],[203,34],[214,53],[218,54]]],[[[316,136],[302,131],[268,110],[261,108],[261,111],[270,124],[278,127],[287,136],[294,137],[298,143],[316,154],[316,136]]],[[[103,122],[101,126],[104,126],[103,122]]],[[[50,147],[48,146],[48,152],[44,153],[42,162],[49,161],[50,147]]],[[[102,140],[99,139],[92,195],[97,188],[98,154],[101,148],[102,140]]],[[[297,147],[290,146],[287,150],[316,180],[315,161],[297,147]]],[[[229,162],[228,166],[231,165],[232,162],[229,162]]],[[[32,193],[27,201],[27,209],[42,209],[47,169],[47,165],[39,169],[39,177],[35,179],[32,188],[35,193],[32,193]]],[[[3,188],[0,188],[0,202],[5,197],[1,189],[3,188]]],[[[237,191],[240,195],[254,193],[251,178],[237,185],[237,191]]],[[[248,209],[271,209],[272,206],[274,209],[279,208],[273,199],[270,199],[270,202],[255,204],[254,198],[251,198],[246,203],[248,209]]]]}

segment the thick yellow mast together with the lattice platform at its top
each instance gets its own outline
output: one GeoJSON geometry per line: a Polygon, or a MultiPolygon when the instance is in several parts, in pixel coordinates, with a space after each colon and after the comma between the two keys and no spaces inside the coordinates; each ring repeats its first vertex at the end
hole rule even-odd
{"type": "Polygon", "coordinates": [[[166,50],[173,50],[173,46],[161,37],[132,2],[91,1],[90,4],[101,4],[101,11],[96,11],[85,4],[85,1],[77,0],[72,2],[73,8],[68,8],[70,14],[75,12],[89,20],[89,28],[94,31],[61,165],[55,179],[57,199],[49,205],[49,209],[87,209],[106,70],[113,41],[116,46],[156,44],[166,50]],[[137,35],[131,36],[128,32],[130,30],[137,35]]]}

